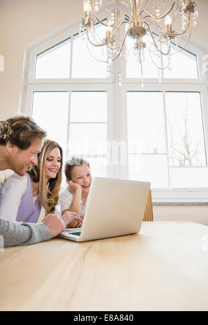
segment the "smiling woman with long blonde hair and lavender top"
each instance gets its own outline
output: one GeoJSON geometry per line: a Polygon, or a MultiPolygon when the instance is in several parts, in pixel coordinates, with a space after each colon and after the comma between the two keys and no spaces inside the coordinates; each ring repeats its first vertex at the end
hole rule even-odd
{"type": "MultiPolygon", "coordinates": [[[[32,166],[26,175],[13,174],[1,185],[2,219],[35,223],[42,207],[46,213],[58,214],[55,207],[62,182],[62,148],[55,141],[46,140],[37,160],[37,166],[32,166]]],[[[73,220],[82,223],[76,213],[71,213],[73,220]]]]}

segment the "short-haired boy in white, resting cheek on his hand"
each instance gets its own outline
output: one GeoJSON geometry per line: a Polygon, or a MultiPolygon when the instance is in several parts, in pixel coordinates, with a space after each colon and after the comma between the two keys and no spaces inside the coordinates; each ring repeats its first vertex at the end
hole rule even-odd
{"type": "MultiPolygon", "coordinates": [[[[67,211],[77,213],[80,218],[85,216],[87,196],[92,183],[89,162],[83,158],[73,157],[65,166],[67,188],[60,194],[62,214],[67,211]]],[[[68,227],[79,227],[77,222],[71,222],[68,227]]]]}

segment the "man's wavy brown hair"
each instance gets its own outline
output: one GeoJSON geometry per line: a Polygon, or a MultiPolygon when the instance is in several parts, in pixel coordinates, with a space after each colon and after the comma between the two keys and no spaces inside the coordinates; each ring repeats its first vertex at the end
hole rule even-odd
{"type": "Polygon", "coordinates": [[[35,138],[43,139],[46,132],[29,116],[15,116],[6,121],[0,121],[0,145],[8,141],[21,150],[31,146],[35,138]]]}

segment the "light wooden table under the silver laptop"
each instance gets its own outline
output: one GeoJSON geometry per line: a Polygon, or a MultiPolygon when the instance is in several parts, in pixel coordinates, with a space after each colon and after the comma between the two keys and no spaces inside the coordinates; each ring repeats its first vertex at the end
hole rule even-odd
{"type": "Polygon", "coordinates": [[[208,227],[143,222],[131,236],[8,247],[0,310],[208,310],[208,227]]]}

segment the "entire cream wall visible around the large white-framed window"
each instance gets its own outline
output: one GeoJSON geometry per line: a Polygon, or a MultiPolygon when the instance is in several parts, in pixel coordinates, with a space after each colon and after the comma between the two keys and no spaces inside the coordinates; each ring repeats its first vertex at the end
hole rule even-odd
{"type": "MultiPolygon", "coordinates": [[[[171,0],[168,0],[171,1],[171,0]]],[[[191,39],[208,53],[208,1],[198,0],[198,25],[191,39]]],[[[83,0],[21,0],[0,10],[0,118],[18,112],[26,45],[83,16],[83,0]]],[[[208,225],[208,207],[154,207],[155,220],[191,220],[208,225]]]]}

